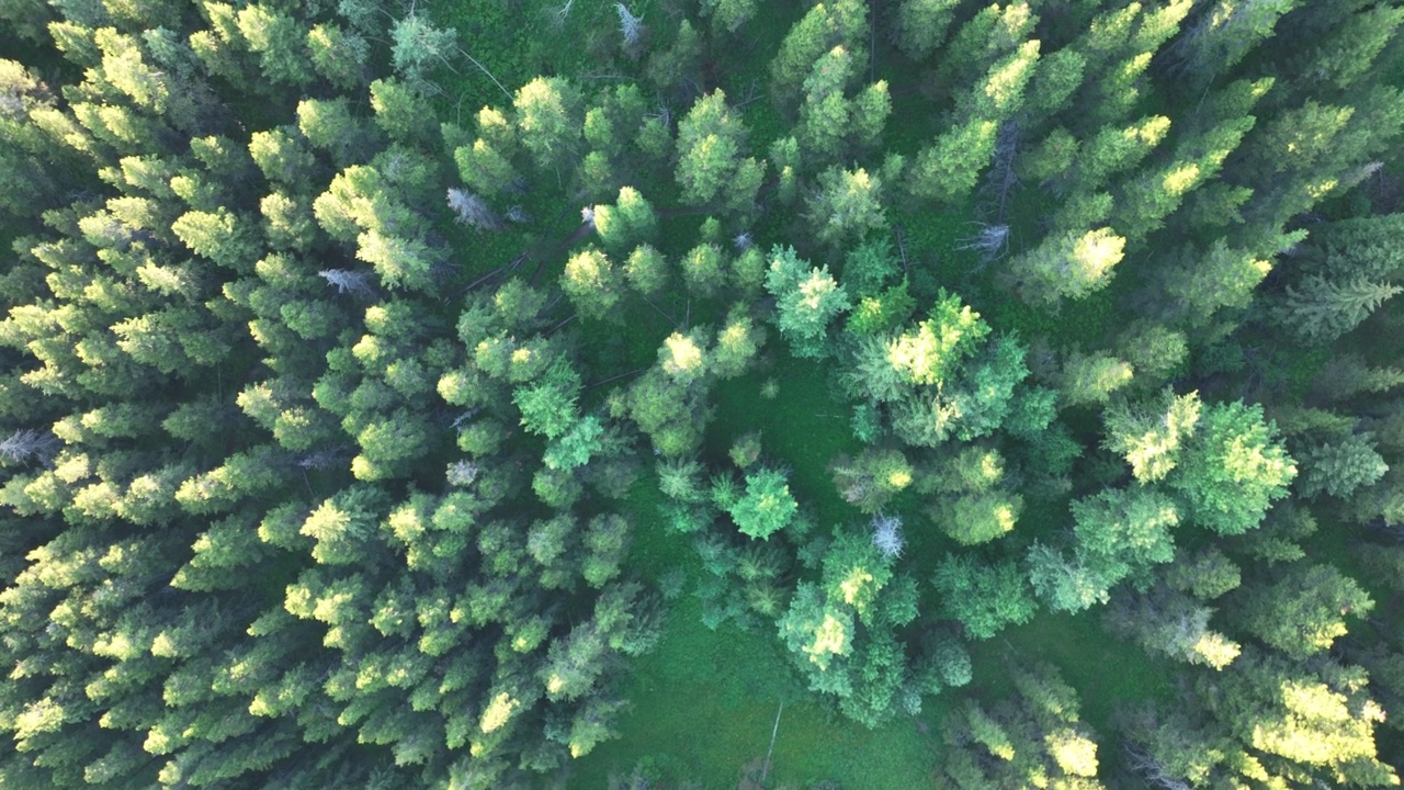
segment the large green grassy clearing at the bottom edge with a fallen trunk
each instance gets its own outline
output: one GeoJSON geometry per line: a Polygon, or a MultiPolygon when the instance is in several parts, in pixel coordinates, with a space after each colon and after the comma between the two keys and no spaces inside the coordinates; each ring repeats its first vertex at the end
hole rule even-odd
{"type": "Polygon", "coordinates": [[[856,727],[809,701],[768,630],[708,631],[691,599],[670,617],[663,644],[635,665],[623,689],[633,707],[622,737],[580,760],[571,787],[604,787],[611,772],[626,773],[640,760],[709,790],[736,787],[747,768],[764,762],[782,700],[769,786],[826,779],[841,787],[931,784],[936,744],[915,723],[856,727]]]}

